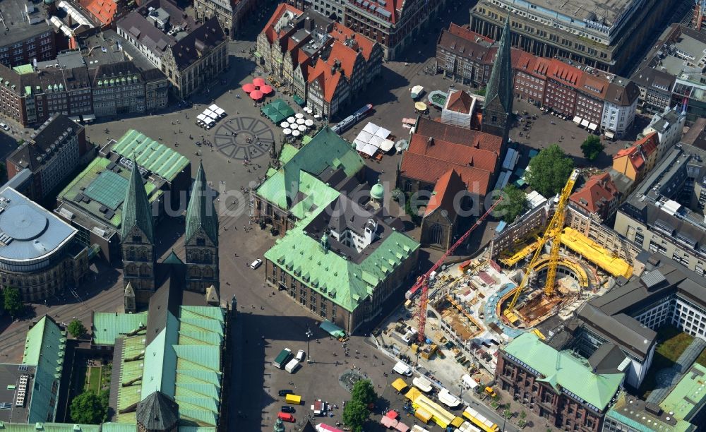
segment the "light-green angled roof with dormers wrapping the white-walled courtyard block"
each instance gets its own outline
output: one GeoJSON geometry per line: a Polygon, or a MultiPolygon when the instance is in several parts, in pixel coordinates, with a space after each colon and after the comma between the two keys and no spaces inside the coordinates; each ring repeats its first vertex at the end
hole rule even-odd
{"type": "Polygon", "coordinates": [[[304,227],[323,210],[324,206],[318,208],[289,229],[275,246],[265,252],[265,258],[338,306],[354,311],[397,266],[417,251],[419,243],[393,231],[378,240],[381,244],[361,263],[354,263],[333,251],[325,251],[320,240],[304,233],[304,227]]]}

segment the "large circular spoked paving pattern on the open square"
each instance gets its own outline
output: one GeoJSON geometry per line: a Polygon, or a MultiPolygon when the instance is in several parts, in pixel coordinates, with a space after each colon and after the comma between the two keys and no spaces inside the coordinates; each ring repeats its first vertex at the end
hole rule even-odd
{"type": "Polygon", "coordinates": [[[213,134],[215,148],[237,160],[253,160],[267,155],[274,142],[275,133],[270,125],[252,117],[232,117],[222,121],[213,134]]]}

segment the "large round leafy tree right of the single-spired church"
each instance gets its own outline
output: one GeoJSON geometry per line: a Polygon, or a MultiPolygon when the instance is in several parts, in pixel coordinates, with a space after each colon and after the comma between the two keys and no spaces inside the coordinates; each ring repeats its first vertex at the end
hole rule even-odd
{"type": "Polygon", "coordinates": [[[561,191],[572,170],[573,160],[558,145],[550,145],[530,161],[527,183],[549,198],[561,191]]]}

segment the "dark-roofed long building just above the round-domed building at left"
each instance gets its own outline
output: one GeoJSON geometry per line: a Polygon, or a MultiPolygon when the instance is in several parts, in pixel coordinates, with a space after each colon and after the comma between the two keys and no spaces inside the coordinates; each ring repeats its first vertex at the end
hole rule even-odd
{"type": "Polygon", "coordinates": [[[64,114],[52,116],[32,133],[30,140],[7,157],[8,179],[23,169],[30,169],[32,180],[28,196],[43,200],[55,193],[56,186],[78,168],[88,150],[83,126],[64,114]]]}

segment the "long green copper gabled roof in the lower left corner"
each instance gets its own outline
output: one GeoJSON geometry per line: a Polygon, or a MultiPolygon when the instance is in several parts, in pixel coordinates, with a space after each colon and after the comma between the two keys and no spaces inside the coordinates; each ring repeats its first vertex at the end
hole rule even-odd
{"type": "Polygon", "coordinates": [[[35,385],[28,404],[28,423],[52,420],[56,416],[56,394],[59,392],[65,352],[66,334],[47,316],[27,332],[22,363],[37,366],[35,385]],[[54,387],[56,389],[52,392],[54,387]]]}

